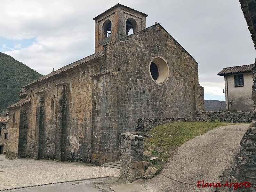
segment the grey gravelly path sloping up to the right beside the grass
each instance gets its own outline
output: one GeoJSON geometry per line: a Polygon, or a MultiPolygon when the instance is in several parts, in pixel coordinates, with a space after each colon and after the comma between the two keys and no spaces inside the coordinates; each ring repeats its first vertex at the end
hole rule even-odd
{"type": "MultiPolygon", "coordinates": [[[[239,142],[248,126],[236,124],[220,127],[186,142],[168,162],[162,174],[189,184],[197,184],[197,181],[202,180],[204,183],[221,182],[223,173],[232,165],[233,158],[240,149],[239,142]]],[[[226,181],[223,180],[224,183],[226,181]]],[[[161,192],[216,191],[216,188],[198,188],[179,183],[161,174],[142,184],[151,191],[161,192]]],[[[225,188],[219,189],[224,191],[225,188]]]]}

